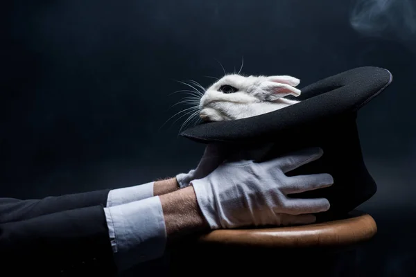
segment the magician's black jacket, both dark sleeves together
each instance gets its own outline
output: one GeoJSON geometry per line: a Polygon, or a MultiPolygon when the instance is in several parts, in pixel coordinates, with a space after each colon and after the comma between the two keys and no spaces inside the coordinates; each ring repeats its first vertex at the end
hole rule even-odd
{"type": "Polygon", "coordinates": [[[109,191],[0,198],[1,275],[114,276],[103,211],[109,191]]]}

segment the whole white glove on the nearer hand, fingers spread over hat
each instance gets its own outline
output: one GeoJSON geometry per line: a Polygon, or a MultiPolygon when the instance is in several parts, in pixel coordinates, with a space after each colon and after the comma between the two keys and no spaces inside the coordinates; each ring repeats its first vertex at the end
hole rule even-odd
{"type": "Polygon", "coordinates": [[[333,178],[329,174],[287,177],[285,173],[322,154],[320,148],[309,148],[261,163],[221,164],[207,177],[191,181],[202,215],[211,229],[315,222],[313,213],[328,211],[327,199],[286,195],[331,186],[333,178]]]}

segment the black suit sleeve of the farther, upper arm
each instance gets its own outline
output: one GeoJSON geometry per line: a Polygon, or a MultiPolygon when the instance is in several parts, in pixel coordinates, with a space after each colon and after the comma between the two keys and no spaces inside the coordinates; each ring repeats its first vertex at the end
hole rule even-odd
{"type": "Polygon", "coordinates": [[[0,198],[0,224],[89,206],[106,206],[110,190],[21,200],[0,198]]]}

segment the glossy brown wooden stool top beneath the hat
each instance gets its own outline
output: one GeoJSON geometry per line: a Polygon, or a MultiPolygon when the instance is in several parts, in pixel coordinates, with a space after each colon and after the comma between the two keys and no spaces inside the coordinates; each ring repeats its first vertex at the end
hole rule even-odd
{"type": "Polygon", "coordinates": [[[250,248],[331,247],[364,242],[376,232],[376,222],[371,215],[354,211],[344,219],[304,226],[216,230],[200,236],[197,241],[250,248]]]}

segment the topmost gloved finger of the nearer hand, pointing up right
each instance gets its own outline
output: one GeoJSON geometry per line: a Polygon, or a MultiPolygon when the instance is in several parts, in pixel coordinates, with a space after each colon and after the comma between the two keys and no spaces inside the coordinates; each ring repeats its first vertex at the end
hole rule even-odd
{"type": "Polygon", "coordinates": [[[265,161],[263,164],[268,166],[271,170],[279,167],[282,172],[286,173],[295,170],[296,168],[300,168],[300,166],[303,166],[306,163],[319,159],[322,157],[322,154],[324,154],[322,148],[305,148],[285,154],[277,159],[265,161]]]}

